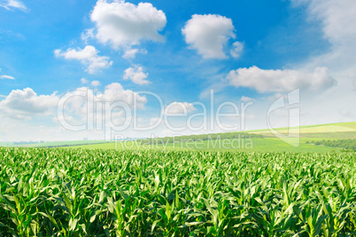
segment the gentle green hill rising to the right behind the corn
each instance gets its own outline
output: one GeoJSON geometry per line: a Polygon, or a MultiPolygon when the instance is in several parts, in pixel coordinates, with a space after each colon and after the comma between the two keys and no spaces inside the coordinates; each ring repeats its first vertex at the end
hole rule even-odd
{"type": "Polygon", "coordinates": [[[147,138],[136,141],[122,141],[72,147],[119,150],[239,150],[309,153],[342,151],[345,148],[354,147],[354,143],[356,142],[356,122],[308,125],[290,129],[279,128],[276,129],[276,131],[283,135],[290,134],[291,138],[285,138],[284,140],[276,138],[270,130],[247,130],[179,136],[174,138],[147,138]],[[297,136],[298,134],[299,136],[297,136]],[[290,146],[288,139],[298,139],[298,146],[290,146]],[[347,146],[345,145],[346,143],[347,146]]]}

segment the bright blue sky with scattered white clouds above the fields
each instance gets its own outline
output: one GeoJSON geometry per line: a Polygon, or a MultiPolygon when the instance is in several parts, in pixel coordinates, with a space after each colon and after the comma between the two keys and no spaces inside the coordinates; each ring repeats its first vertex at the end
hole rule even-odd
{"type": "MultiPolygon", "coordinates": [[[[89,130],[71,135],[56,121],[58,99],[80,88],[111,102],[151,91],[188,114],[201,111],[194,102],[208,107],[213,89],[213,110],[253,102],[239,129],[266,128],[267,108],[299,89],[301,124],[356,120],[356,30],[340,28],[356,24],[352,0],[140,3],[0,1],[0,121],[12,124],[3,125],[0,140],[101,138],[89,130]]],[[[143,98],[138,121],[165,114],[143,98]]],[[[81,106],[72,104],[66,116],[83,120],[81,106]]],[[[275,126],[285,125],[284,115],[276,113],[275,126]]],[[[216,130],[180,132],[209,131],[216,130]]],[[[124,133],[172,134],[166,127],[124,133]]]]}

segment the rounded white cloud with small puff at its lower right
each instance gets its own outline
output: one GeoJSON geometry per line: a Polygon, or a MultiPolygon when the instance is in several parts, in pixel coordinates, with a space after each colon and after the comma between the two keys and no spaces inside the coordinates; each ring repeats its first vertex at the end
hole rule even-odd
{"type": "MultiPolygon", "coordinates": [[[[236,38],[234,31],[231,19],[214,14],[195,14],[182,28],[182,35],[190,48],[197,50],[203,58],[226,59],[228,56],[224,47],[227,46],[228,39],[236,38]]],[[[242,50],[243,44],[236,42],[230,54],[237,58],[242,50]]]]}

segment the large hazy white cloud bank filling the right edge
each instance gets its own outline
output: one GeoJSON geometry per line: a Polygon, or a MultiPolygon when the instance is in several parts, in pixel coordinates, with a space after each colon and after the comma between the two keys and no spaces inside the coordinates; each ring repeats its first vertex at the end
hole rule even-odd
{"type": "MultiPolygon", "coordinates": [[[[329,48],[320,55],[312,56],[298,64],[298,68],[311,70],[328,67],[337,80],[337,87],[321,94],[313,94],[305,102],[304,118],[310,124],[356,121],[355,115],[336,113],[338,110],[354,111],[356,93],[352,83],[356,78],[356,1],[353,0],[293,0],[295,6],[306,10],[308,20],[319,21],[315,28],[329,41],[329,48]]],[[[308,40],[308,39],[306,39],[308,40]]]]}

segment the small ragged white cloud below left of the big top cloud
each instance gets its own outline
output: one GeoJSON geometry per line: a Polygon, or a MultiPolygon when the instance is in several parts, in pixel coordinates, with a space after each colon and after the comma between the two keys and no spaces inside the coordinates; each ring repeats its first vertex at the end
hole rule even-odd
{"type": "Polygon", "coordinates": [[[94,46],[87,45],[84,49],[67,49],[66,51],[55,50],[56,57],[79,60],[86,66],[89,74],[95,74],[103,68],[111,67],[112,61],[108,57],[97,55],[99,51],[94,46]]]}

